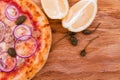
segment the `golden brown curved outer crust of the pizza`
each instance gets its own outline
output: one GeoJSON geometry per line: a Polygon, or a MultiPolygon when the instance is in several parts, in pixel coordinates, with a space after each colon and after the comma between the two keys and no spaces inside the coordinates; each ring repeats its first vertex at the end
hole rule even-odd
{"type": "MultiPolygon", "coordinates": [[[[28,66],[20,69],[16,75],[10,74],[8,80],[30,80],[43,67],[47,60],[51,45],[51,29],[45,15],[42,13],[40,8],[38,8],[31,0],[13,1],[21,6],[23,10],[26,9],[29,11],[33,17],[33,20],[37,21],[37,25],[39,26],[38,29],[41,31],[41,49],[37,51],[34,58],[30,59],[31,63],[29,63],[28,66]]],[[[3,73],[2,75],[5,74],[3,73]]]]}

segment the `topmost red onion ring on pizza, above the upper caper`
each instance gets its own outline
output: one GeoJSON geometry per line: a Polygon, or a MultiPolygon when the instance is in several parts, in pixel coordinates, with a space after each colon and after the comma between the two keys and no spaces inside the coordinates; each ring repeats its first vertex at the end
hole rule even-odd
{"type": "Polygon", "coordinates": [[[9,20],[13,21],[18,18],[20,13],[14,5],[9,4],[6,8],[5,15],[9,20]]]}

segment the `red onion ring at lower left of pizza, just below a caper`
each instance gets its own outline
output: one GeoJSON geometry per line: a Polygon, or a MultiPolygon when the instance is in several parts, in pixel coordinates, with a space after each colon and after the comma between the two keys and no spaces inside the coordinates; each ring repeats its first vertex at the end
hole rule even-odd
{"type": "Polygon", "coordinates": [[[3,72],[10,72],[15,69],[17,59],[8,55],[7,52],[0,54],[0,70],[3,72]]]}

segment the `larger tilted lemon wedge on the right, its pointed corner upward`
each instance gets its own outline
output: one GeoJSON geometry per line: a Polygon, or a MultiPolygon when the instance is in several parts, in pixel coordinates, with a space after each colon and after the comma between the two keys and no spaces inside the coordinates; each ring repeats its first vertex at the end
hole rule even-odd
{"type": "Polygon", "coordinates": [[[80,0],[73,5],[62,25],[72,32],[80,32],[90,26],[97,13],[97,0],[80,0]]]}

